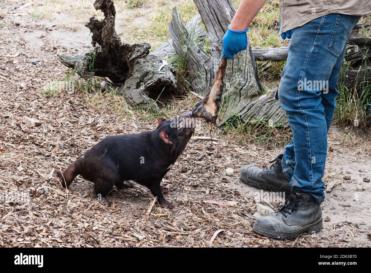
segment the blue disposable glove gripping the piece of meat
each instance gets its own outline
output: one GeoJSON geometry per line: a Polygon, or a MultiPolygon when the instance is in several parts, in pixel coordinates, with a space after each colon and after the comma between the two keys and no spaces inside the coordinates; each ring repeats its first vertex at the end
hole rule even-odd
{"type": "Polygon", "coordinates": [[[228,30],[224,34],[223,38],[223,53],[227,59],[232,59],[234,54],[243,51],[247,48],[247,35],[246,32],[249,30],[247,27],[244,31],[230,30],[228,25],[228,30]]]}

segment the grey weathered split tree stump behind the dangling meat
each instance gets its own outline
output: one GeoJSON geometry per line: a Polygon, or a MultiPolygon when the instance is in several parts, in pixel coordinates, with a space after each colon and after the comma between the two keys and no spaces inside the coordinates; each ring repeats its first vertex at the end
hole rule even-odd
{"type": "MultiPolygon", "coordinates": [[[[223,50],[222,40],[227,26],[236,10],[232,1],[194,0],[206,28],[210,41],[211,54],[194,42],[195,37],[184,31],[179,12],[173,10],[173,20],[169,23],[169,33],[178,56],[188,58],[188,71],[192,86],[198,94],[206,95],[213,84],[223,50]],[[183,30],[183,31],[182,31],[183,30]]],[[[288,126],[285,111],[275,100],[276,90],[263,94],[257,76],[255,59],[250,42],[248,50],[235,55],[227,62],[224,76],[223,108],[224,120],[239,115],[245,121],[264,120],[273,126],[288,126]]]]}

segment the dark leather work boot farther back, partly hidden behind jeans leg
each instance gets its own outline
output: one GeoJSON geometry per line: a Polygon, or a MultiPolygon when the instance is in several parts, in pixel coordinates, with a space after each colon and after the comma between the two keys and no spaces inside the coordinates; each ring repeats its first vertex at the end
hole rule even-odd
{"type": "Polygon", "coordinates": [[[269,162],[274,162],[273,165],[265,169],[253,165],[243,166],[240,172],[242,182],[254,188],[290,194],[290,181],[282,171],[282,157],[283,154],[277,156],[269,162]]]}

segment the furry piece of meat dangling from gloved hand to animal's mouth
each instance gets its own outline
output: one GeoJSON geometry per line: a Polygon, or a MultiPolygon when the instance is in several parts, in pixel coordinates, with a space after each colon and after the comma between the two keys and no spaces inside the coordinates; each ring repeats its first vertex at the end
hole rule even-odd
{"type": "Polygon", "coordinates": [[[207,122],[211,122],[216,126],[216,119],[218,118],[221,97],[223,95],[224,74],[226,74],[227,58],[222,56],[219,68],[216,73],[213,86],[207,92],[206,97],[193,106],[193,117],[204,118],[207,122]]]}

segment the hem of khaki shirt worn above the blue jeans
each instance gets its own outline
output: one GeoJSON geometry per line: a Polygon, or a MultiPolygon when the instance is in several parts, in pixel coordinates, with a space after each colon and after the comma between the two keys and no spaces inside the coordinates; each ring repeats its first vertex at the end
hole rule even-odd
{"type": "Polygon", "coordinates": [[[330,13],[365,15],[371,13],[371,0],[280,0],[279,34],[330,13]]]}

